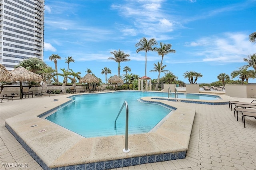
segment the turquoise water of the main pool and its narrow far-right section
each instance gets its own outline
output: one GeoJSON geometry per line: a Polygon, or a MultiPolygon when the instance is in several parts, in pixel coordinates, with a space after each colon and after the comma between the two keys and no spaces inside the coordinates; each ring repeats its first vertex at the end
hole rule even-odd
{"type": "MultiPolygon", "coordinates": [[[[75,102],[63,107],[46,119],[84,137],[112,136],[125,134],[125,107],[114,121],[124,103],[129,107],[129,134],[146,133],[155,127],[168,113],[170,108],[156,104],[142,103],[141,97],[168,97],[168,93],[120,91],[114,93],[93,93],[73,97],[75,102]]],[[[174,96],[174,95],[172,95],[174,96]]],[[[178,95],[180,98],[182,95],[178,95]]],[[[184,95],[184,98],[188,95],[184,95]]],[[[191,97],[191,96],[190,96],[191,97]]],[[[215,99],[209,96],[192,95],[193,99],[215,99]]]]}

